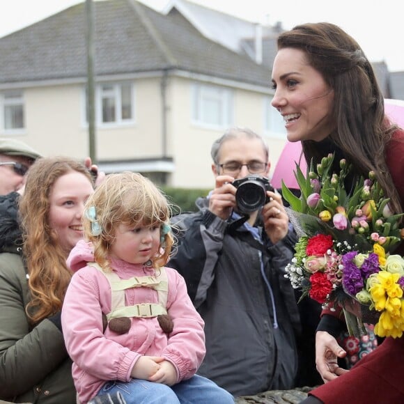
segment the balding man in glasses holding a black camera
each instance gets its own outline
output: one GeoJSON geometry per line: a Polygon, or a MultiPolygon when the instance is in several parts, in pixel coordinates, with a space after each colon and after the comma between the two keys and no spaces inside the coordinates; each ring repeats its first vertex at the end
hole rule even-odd
{"type": "Polygon", "coordinates": [[[300,317],[284,267],[297,238],[267,180],[265,141],[228,130],[212,145],[215,189],[199,212],[173,217],[182,230],[168,265],[187,282],[205,320],[199,374],[234,396],[294,387],[300,317]]]}

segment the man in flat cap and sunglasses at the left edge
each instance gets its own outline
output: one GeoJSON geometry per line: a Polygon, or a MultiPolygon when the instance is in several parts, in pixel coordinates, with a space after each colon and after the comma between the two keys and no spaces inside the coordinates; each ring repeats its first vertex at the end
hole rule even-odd
{"type": "Polygon", "coordinates": [[[0,195],[16,192],[24,185],[24,176],[40,154],[16,139],[0,139],[0,195]]]}

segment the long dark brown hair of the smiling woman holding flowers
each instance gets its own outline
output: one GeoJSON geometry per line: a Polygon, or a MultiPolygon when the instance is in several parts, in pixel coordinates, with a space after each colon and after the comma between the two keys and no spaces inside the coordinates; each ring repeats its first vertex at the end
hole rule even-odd
{"type": "Polygon", "coordinates": [[[302,141],[306,162],[341,152],[367,178],[375,175],[390,198],[390,207],[401,212],[401,200],[385,159],[385,146],[397,129],[384,115],[384,100],[371,63],[358,43],[339,26],[327,22],[297,25],[278,37],[278,49],[292,47],[306,53],[310,65],[334,90],[332,119],[335,129],[323,142],[302,141]],[[338,150],[337,150],[338,152],[338,150]]]}

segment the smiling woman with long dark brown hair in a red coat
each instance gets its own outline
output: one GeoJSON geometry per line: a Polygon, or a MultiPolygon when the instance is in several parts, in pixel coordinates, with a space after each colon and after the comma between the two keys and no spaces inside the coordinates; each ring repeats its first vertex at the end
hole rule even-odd
{"type": "MultiPolygon", "coordinates": [[[[347,160],[354,168],[345,181],[348,192],[358,176],[366,178],[374,171],[390,199],[391,212],[403,211],[404,131],[384,114],[371,63],[353,38],[325,22],[281,33],[272,85],[272,106],[283,116],[288,140],[302,141],[308,164],[312,159],[319,163],[328,153],[335,153],[336,164],[347,160]]],[[[338,308],[323,310],[316,333],[316,365],[323,380],[332,382],[312,391],[307,403],[401,402],[401,379],[387,375],[401,374],[404,339],[385,339],[345,371],[337,362],[345,351],[334,338],[343,327],[340,314],[338,308]],[[366,389],[361,389],[364,382],[366,389]]]]}

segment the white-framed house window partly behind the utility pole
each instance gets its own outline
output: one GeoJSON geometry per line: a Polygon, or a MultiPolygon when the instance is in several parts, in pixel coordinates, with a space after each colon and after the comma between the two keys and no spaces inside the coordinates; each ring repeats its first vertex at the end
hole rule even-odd
{"type": "MultiPolygon", "coordinates": [[[[133,84],[100,84],[97,86],[95,89],[95,117],[98,125],[133,123],[133,84]]],[[[88,122],[87,113],[86,122],[88,122]]]]}

